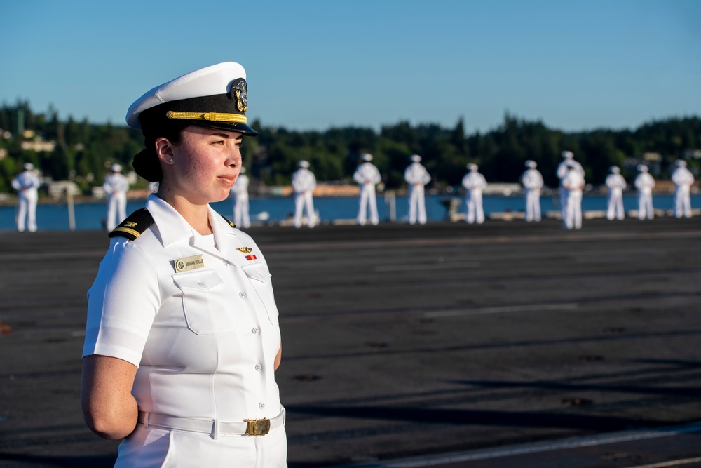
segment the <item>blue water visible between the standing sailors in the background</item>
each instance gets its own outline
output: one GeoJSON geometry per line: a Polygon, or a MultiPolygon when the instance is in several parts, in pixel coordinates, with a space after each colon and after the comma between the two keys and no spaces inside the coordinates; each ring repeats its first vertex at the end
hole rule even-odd
{"type": "MultiPolygon", "coordinates": [[[[429,221],[441,221],[446,218],[447,210],[441,200],[445,195],[427,195],[426,213],[429,221]]],[[[670,210],[673,206],[672,195],[656,195],[653,199],[655,208],[670,210]]],[[[145,200],[133,200],[127,203],[127,214],[143,208],[145,200]]],[[[543,213],[557,210],[557,199],[552,196],[543,196],[540,199],[543,213]]],[[[623,197],[625,210],[637,209],[637,197],[627,195],[623,197]]],[[[227,218],[233,218],[233,201],[231,199],[212,203],[212,206],[227,218]]],[[[408,214],[407,197],[397,196],[395,201],[396,220],[404,222],[408,214]]],[[[701,208],[701,195],[693,195],[692,208],[701,208]]],[[[327,197],[314,200],[314,208],[318,211],[322,222],[333,220],[353,220],[358,214],[358,199],[353,197],[327,197]]],[[[378,196],[377,208],[380,220],[390,220],[390,207],[383,196],[378,196]]],[[[606,210],[606,196],[588,195],[582,201],[583,210],[606,210]]],[[[524,199],[522,196],[485,196],[484,213],[503,213],[505,211],[523,211],[524,199]]],[[[464,213],[464,203],[460,205],[460,211],[464,213]]],[[[294,200],[292,197],[257,198],[250,200],[250,213],[252,222],[266,220],[267,222],[279,222],[290,217],[294,213],[294,200]],[[263,213],[259,217],[259,214],[263,213]],[[266,218],[267,214],[267,219],[266,218]]],[[[104,218],[107,215],[105,203],[82,203],[75,206],[76,229],[103,229],[104,218]]],[[[41,204],[36,208],[36,222],[40,230],[68,230],[68,207],[65,203],[41,204]]],[[[15,229],[15,207],[0,207],[0,230],[15,229]]]]}

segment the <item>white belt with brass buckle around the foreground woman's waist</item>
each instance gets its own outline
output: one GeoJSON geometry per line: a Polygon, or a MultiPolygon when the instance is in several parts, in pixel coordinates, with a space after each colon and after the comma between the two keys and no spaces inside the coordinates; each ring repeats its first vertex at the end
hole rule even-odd
{"type": "Polygon", "coordinates": [[[264,436],[271,430],[285,425],[285,408],[280,406],[280,414],[269,420],[264,417],[240,422],[208,420],[202,417],[175,417],[139,411],[138,422],[144,424],[144,427],[210,434],[212,439],[217,439],[219,435],[264,436]]]}

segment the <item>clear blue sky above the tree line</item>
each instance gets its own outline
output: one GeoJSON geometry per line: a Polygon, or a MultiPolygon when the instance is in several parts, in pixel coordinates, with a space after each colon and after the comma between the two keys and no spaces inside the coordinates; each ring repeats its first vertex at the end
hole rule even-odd
{"type": "Polygon", "coordinates": [[[701,114],[701,1],[0,2],[0,102],[122,125],[150,88],[247,70],[266,126],[636,128],[701,114]]]}

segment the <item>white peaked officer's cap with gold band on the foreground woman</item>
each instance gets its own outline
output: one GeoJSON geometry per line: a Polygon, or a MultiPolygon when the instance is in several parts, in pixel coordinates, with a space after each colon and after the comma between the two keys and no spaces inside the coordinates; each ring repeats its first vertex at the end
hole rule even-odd
{"type": "Polygon", "coordinates": [[[168,122],[257,136],[248,126],[246,71],[236,62],[198,69],[151,89],[127,111],[126,121],[146,135],[168,122]]]}

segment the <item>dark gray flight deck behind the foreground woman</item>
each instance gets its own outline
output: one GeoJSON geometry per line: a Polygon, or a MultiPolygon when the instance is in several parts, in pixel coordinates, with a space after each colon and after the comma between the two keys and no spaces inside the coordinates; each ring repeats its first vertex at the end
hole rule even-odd
{"type": "MultiPolygon", "coordinates": [[[[701,466],[701,217],[248,231],[290,468],[701,466]]],[[[0,467],[114,462],[79,406],[107,245],[0,232],[0,467]]]]}

